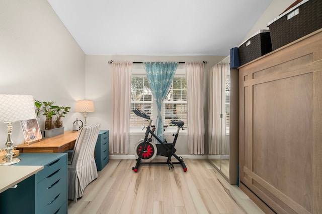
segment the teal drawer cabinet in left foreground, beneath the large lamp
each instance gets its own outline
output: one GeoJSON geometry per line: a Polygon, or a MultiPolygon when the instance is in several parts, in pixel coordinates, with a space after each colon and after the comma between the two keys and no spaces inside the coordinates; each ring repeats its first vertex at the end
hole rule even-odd
{"type": "Polygon", "coordinates": [[[67,153],[20,153],[15,165],[44,169],[0,194],[4,213],[67,213],[67,153]]]}

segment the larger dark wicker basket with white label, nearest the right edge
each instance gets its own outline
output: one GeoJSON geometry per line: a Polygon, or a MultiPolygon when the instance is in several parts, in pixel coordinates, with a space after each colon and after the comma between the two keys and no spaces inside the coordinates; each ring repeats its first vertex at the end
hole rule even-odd
{"type": "Polygon", "coordinates": [[[268,23],[272,48],[276,50],[322,28],[322,1],[303,0],[268,23]]]}

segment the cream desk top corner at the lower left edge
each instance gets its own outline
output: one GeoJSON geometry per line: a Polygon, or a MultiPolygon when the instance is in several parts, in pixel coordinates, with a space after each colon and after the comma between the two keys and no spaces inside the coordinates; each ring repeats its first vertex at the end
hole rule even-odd
{"type": "Polygon", "coordinates": [[[9,189],[27,177],[36,174],[43,168],[44,166],[0,166],[0,192],[9,189]]]}

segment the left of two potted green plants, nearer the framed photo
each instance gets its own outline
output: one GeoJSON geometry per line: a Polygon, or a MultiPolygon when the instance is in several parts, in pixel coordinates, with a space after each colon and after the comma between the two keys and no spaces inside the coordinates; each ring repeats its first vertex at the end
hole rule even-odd
{"type": "Polygon", "coordinates": [[[55,128],[55,122],[53,120],[53,116],[56,115],[56,110],[53,104],[54,102],[40,102],[38,100],[35,100],[37,117],[39,117],[40,112],[42,112],[42,115],[46,117],[46,121],[45,121],[46,130],[55,128]]]}

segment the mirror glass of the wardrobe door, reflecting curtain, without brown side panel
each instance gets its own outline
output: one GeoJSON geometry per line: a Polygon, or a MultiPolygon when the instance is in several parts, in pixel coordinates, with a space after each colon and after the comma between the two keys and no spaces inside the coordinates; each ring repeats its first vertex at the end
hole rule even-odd
{"type": "Polygon", "coordinates": [[[208,158],[229,177],[230,58],[209,70],[208,158]]]}

